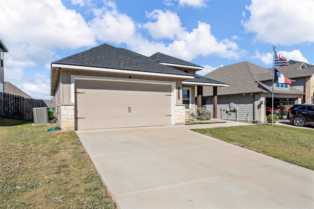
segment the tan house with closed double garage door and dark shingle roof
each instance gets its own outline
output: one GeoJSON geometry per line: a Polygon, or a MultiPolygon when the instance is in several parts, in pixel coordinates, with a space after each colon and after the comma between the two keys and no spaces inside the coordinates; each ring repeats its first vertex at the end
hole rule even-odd
{"type": "Polygon", "coordinates": [[[203,86],[228,86],[196,75],[203,68],[192,63],[107,44],[51,66],[51,95],[62,129],[183,124],[203,86]]]}

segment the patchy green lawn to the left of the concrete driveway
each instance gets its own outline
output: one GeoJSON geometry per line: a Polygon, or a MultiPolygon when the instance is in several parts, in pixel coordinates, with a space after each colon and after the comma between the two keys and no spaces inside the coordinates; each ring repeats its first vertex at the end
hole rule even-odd
{"type": "Polygon", "coordinates": [[[0,208],[114,209],[75,131],[0,118],[0,208]]]}

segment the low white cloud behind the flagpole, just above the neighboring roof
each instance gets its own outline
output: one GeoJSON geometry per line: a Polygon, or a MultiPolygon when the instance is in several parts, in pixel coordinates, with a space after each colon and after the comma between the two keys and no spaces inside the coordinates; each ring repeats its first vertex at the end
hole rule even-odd
{"type": "MultiPolygon", "coordinates": [[[[302,52],[299,49],[294,49],[292,51],[278,51],[282,54],[288,61],[296,60],[299,62],[309,63],[309,61],[303,56],[302,52]]],[[[252,58],[260,59],[266,65],[273,64],[273,53],[261,53],[258,50],[255,52],[255,55],[252,58]]]]}

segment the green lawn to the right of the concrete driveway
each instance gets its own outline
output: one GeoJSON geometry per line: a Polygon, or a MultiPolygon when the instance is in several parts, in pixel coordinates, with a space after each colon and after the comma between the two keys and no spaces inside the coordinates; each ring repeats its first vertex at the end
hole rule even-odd
{"type": "Polygon", "coordinates": [[[261,124],[192,130],[314,170],[314,129],[261,124]]]}

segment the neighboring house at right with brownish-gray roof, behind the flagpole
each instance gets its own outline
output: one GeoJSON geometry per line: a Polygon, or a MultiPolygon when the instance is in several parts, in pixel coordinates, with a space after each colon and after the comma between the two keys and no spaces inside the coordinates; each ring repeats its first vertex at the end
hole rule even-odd
{"type": "MultiPolygon", "coordinates": [[[[295,103],[312,103],[313,67],[307,68],[304,63],[295,62],[276,69],[289,78],[292,84],[275,83],[274,108],[295,103]]],[[[218,118],[265,122],[266,110],[272,108],[272,69],[241,62],[213,70],[205,77],[229,84],[229,87],[218,89],[218,118]]],[[[206,87],[203,96],[208,98],[207,108],[211,110],[212,88],[206,87]]]]}

